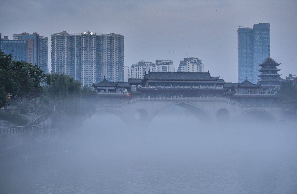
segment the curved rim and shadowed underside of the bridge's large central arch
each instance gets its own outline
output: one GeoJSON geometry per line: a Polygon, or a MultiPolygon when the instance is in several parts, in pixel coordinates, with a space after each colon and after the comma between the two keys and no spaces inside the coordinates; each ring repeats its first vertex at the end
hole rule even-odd
{"type": "Polygon", "coordinates": [[[195,104],[192,104],[190,102],[173,102],[168,105],[162,106],[162,108],[157,110],[155,112],[155,114],[153,116],[151,116],[149,123],[154,119],[155,116],[157,116],[157,114],[159,113],[160,110],[162,110],[168,106],[172,106],[172,105],[180,106],[182,108],[189,110],[191,113],[193,113],[195,115],[195,117],[201,123],[213,122],[213,118],[209,115],[209,113],[205,109],[203,109],[195,104]]]}

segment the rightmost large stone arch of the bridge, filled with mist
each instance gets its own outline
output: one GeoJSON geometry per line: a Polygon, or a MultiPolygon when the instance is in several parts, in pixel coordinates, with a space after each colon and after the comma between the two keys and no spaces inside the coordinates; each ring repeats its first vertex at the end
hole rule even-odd
{"type": "Polygon", "coordinates": [[[277,118],[275,118],[271,113],[268,113],[267,111],[260,110],[260,109],[251,109],[251,110],[246,110],[242,113],[240,113],[238,116],[236,116],[235,121],[251,121],[252,120],[258,120],[258,121],[277,121],[277,118]],[[245,119],[243,119],[245,118],[245,119]]]}

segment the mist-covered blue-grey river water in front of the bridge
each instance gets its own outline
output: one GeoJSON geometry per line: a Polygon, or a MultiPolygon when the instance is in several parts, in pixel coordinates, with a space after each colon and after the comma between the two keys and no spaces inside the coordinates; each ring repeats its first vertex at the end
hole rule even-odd
{"type": "Polygon", "coordinates": [[[157,116],[132,129],[94,115],[42,153],[0,160],[0,193],[297,193],[297,130],[157,116]]]}

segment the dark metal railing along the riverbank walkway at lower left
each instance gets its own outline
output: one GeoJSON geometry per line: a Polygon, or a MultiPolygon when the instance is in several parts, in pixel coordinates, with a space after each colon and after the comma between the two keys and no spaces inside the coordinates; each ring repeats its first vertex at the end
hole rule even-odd
{"type": "Polygon", "coordinates": [[[57,129],[61,127],[63,127],[63,124],[3,127],[3,128],[0,128],[0,136],[5,134],[13,135],[13,134],[22,134],[27,132],[37,132],[45,129],[57,129]]]}

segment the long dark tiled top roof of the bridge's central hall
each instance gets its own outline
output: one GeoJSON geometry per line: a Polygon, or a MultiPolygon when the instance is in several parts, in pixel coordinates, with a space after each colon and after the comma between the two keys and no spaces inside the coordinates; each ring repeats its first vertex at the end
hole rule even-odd
{"type": "Polygon", "coordinates": [[[147,80],[172,81],[216,81],[219,77],[211,77],[209,72],[150,72],[143,75],[147,80]]]}

